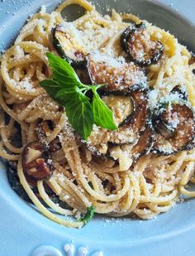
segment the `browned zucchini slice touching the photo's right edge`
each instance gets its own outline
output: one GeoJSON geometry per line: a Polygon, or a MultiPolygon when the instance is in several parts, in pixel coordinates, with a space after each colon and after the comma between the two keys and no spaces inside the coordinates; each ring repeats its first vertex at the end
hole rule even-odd
{"type": "Polygon", "coordinates": [[[159,123],[153,122],[157,132],[154,152],[169,155],[195,147],[195,117],[192,109],[185,104],[171,104],[159,117],[163,122],[161,127],[159,123]],[[168,129],[169,127],[173,130],[168,129]]]}

